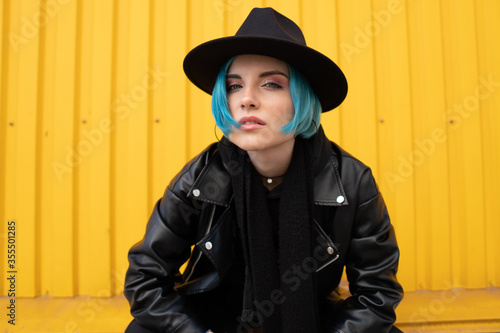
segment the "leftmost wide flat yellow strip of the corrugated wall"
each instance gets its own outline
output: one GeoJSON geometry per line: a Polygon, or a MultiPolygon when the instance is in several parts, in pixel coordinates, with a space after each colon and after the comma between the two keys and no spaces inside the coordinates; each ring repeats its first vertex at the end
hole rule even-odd
{"type": "Polygon", "coordinates": [[[6,168],[7,218],[17,221],[17,296],[36,294],[39,283],[40,258],[36,251],[39,243],[35,224],[37,200],[40,200],[35,190],[39,28],[32,21],[39,11],[38,1],[10,4],[9,31],[18,34],[23,41],[17,48],[11,43],[8,55],[7,117],[13,125],[6,138],[9,161],[6,168]]]}

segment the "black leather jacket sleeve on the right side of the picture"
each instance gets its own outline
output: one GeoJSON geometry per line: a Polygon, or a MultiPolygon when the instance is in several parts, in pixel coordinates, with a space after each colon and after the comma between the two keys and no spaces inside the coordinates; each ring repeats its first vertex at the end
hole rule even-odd
{"type": "Polygon", "coordinates": [[[403,297],[396,279],[399,248],[386,205],[371,171],[360,179],[346,258],[351,296],[341,303],[329,332],[389,332],[403,297]]]}

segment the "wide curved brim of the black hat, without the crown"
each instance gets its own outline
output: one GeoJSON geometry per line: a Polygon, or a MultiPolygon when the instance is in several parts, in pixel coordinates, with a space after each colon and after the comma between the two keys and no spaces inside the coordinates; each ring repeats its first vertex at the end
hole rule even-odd
{"type": "Polygon", "coordinates": [[[198,45],[184,58],[184,72],[194,85],[212,94],[220,68],[233,56],[259,54],[285,61],[309,81],[322,111],[339,106],[347,95],[342,70],[322,53],[297,43],[266,37],[231,36],[198,45]]]}

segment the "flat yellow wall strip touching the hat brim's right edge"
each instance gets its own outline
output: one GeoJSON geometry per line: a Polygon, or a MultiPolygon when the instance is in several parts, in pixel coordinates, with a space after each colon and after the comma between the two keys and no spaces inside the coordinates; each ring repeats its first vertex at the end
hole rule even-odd
{"type": "MultiPolygon", "coordinates": [[[[373,37],[366,34],[372,23],[371,1],[337,3],[339,13],[339,66],[349,84],[345,102],[339,109],[339,144],[367,163],[377,174],[375,72],[373,37]]],[[[375,36],[374,36],[375,37],[375,36]]],[[[327,114],[327,117],[330,117],[327,114]]]]}

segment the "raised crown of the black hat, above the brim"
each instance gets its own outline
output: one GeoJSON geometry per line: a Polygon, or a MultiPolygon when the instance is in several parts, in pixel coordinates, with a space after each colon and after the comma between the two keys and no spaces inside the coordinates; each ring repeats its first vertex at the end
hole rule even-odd
{"type": "Polygon", "coordinates": [[[306,46],[299,26],[273,8],[252,9],[235,36],[282,39],[306,46]]]}

